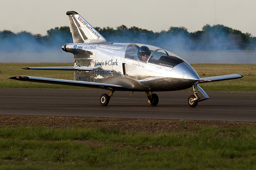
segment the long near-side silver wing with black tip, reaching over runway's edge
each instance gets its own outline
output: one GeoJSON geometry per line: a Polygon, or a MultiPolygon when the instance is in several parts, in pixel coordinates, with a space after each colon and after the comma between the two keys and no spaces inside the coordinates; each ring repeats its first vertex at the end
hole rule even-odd
{"type": "Polygon", "coordinates": [[[44,78],[44,77],[33,77],[33,76],[15,76],[9,79],[20,80],[20,81],[30,81],[37,83],[50,83],[50,84],[58,84],[58,85],[72,85],[72,86],[80,86],[80,87],[92,87],[92,88],[100,88],[100,89],[123,89],[120,85],[111,85],[106,83],[93,83],[86,81],[75,81],[75,80],[64,80],[64,79],[56,79],[56,78],[44,78]]]}

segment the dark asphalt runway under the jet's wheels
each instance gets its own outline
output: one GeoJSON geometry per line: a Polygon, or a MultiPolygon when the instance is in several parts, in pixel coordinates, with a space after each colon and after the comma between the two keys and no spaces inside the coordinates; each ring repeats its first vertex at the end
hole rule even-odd
{"type": "Polygon", "coordinates": [[[100,95],[108,92],[0,89],[0,114],[256,122],[256,93],[206,92],[210,99],[192,108],[188,96],[193,92],[155,92],[159,103],[151,106],[145,92],[134,92],[128,99],[130,92],[116,91],[102,107],[100,95]]]}

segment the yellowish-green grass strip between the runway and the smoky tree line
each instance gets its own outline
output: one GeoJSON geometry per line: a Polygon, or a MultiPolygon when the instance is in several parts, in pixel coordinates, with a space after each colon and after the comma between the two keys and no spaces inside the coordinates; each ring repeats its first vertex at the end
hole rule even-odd
{"type": "MultiPolygon", "coordinates": [[[[34,82],[21,82],[8,79],[18,75],[60,78],[74,80],[73,71],[23,70],[23,67],[72,66],[72,63],[0,63],[0,88],[66,88],[83,89],[83,87],[52,85],[34,82]]],[[[256,64],[191,64],[200,78],[225,74],[243,74],[235,80],[200,84],[206,90],[214,91],[256,91],[256,64]]],[[[190,90],[190,89],[189,89],[190,90]]]]}

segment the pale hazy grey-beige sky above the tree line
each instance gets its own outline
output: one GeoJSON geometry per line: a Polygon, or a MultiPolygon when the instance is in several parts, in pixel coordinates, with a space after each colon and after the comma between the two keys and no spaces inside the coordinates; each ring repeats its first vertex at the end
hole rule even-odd
{"type": "Polygon", "coordinates": [[[1,0],[0,31],[45,35],[69,26],[67,11],[76,11],[92,26],[125,25],[160,32],[184,26],[189,32],[206,24],[231,27],[256,36],[255,0],[1,0]]]}

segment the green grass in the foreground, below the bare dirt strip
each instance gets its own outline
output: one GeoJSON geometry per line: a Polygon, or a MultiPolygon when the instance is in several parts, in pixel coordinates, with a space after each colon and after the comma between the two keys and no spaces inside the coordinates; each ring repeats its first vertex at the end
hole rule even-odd
{"type": "Polygon", "coordinates": [[[0,128],[0,169],[255,169],[256,128],[0,128]]]}

